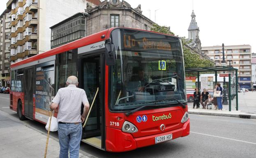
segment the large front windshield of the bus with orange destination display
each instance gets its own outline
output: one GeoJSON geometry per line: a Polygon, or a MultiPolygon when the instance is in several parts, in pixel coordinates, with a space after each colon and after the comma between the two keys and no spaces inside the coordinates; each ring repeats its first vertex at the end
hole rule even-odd
{"type": "Polygon", "coordinates": [[[184,60],[178,37],[115,29],[111,39],[116,56],[115,65],[109,66],[111,111],[144,105],[179,106],[175,99],[186,102],[184,60]]]}

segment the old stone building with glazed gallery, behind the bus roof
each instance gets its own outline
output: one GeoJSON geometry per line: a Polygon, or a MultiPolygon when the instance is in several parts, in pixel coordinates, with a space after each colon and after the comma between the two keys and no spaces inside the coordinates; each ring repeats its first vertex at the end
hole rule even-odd
{"type": "Polygon", "coordinates": [[[51,48],[111,27],[150,30],[155,24],[142,14],[141,5],[131,8],[124,0],[105,0],[96,7],[88,4],[85,8],[85,12],[74,14],[50,27],[51,48]]]}

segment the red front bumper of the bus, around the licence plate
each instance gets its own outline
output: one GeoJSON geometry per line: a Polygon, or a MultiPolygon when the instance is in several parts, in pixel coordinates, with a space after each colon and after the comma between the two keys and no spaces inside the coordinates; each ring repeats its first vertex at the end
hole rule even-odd
{"type": "Polygon", "coordinates": [[[172,134],[172,139],[189,135],[190,119],[185,122],[182,128],[173,131],[134,138],[130,133],[124,133],[120,129],[106,127],[106,150],[111,152],[124,152],[136,148],[146,147],[155,144],[155,137],[172,134]]]}

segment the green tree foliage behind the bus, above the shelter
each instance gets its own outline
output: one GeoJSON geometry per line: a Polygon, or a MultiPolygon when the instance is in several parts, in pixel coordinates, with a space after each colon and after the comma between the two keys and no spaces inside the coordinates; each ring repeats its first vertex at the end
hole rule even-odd
{"type": "MultiPolygon", "coordinates": [[[[151,30],[155,32],[164,33],[164,34],[175,35],[173,32],[171,32],[171,30],[168,27],[159,26],[157,24],[154,24],[153,27],[151,27],[151,30]]],[[[191,40],[187,40],[186,37],[180,37],[180,38],[182,41],[185,68],[214,66],[214,64],[210,60],[201,59],[200,55],[196,53],[192,53],[189,48],[185,47],[185,45],[188,45],[191,43],[191,40]]],[[[187,75],[193,76],[194,73],[191,73],[191,75],[186,74],[186,76],[187,75]]]]}

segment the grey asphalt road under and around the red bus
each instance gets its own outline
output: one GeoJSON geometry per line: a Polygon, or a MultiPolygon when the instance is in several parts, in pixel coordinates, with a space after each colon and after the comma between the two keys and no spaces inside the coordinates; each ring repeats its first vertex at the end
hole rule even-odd
{"type": "MultiPolygon", "coordinates": [[[[0,110],[17,119],[9,109],[9,95],[0,94],[0,110]]],[[[124,153],[109,153],[81,142],[80,149],[98,158],[256,158],[256,120],[190,115],[191,133],[150,147],[124,153]]],[[[47,134],[43,124],[23,124],[47,134]]],[[[1,131],[0,131],[1,133],[1,131]]],[[[58,138],[57,133],[51,136],[58,138]]]]}

